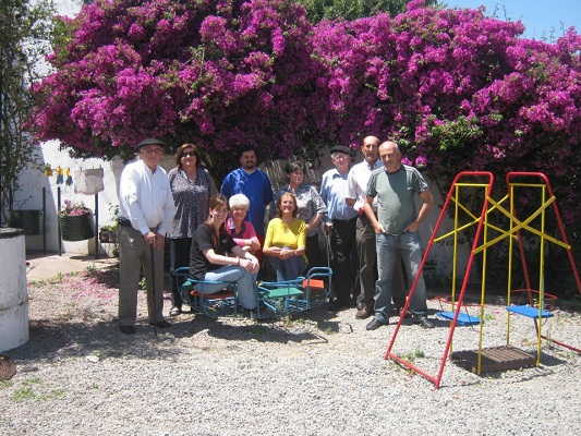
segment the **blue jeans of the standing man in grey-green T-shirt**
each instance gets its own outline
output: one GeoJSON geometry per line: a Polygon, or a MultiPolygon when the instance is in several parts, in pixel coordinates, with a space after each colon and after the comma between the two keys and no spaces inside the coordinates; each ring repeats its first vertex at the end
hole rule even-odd
{"type": "MultiPolygon", "coordinates": [[[[401,255],[410,288],[422,264],[422,242],[417,232],[406,231],[401,234],[382,233],[375,235],[377,250],[378,280],[375,288],[375,317],[382,322],[389,320],[391,313],[391,282],[394,266],[401,255]]],[[[409,310],[414,317],[426,316],[426,288],[421,274],[410,302],[409,310]]]]}

